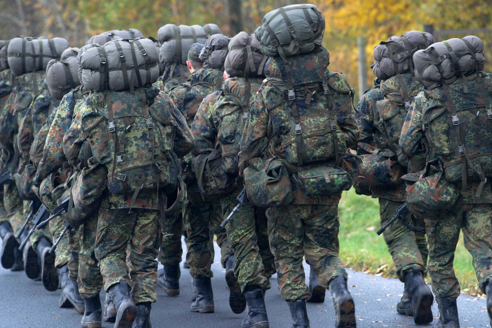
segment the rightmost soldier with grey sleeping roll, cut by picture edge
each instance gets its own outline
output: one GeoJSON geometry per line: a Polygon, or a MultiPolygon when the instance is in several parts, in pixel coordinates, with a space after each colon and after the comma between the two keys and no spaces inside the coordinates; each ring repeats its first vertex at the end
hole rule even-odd
{"type": "Polygon", "coordinates": [[[427,211],[426,232],[429,239],[429,274],[440,318],[435,327],[459,328],[456,298],[460,284],[453,269],[456,244],[463,233],[464,245],[470,252],[482,293],[487,295],[487,312],[492,325],[492,177],[491,138],[492,112],[490,74],[482,72],[485,57],[482,40],[476,36],[450,39],[432,44],[413,56],[415,76],[424,90],[415,96],[403,124],[401,150],[408,158],[424,152],[438,177],[430,188],[415,188],[416,197],[425,192],[437,192],[422,198],[411,211],[427,211]],[[459,67],[459,69],[455,69],[459,67]],[[432,73],[431,73],[432,72],[432,73]],[[428,145],[426,151],[422,143],[428,145]],[[444,171],[444,172],[442,172],[444,171]],[[444,173],[444,174],[443,174],[444,173]],[[441,189],[439,189],[441,188],[441,189]],[[461,190],[461,191],[460,191],[461,190]],[[436,210],[437,209],[437,210],[436,210]]]}

